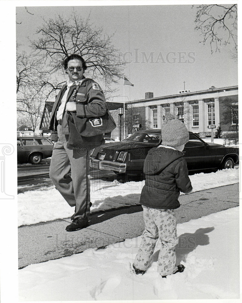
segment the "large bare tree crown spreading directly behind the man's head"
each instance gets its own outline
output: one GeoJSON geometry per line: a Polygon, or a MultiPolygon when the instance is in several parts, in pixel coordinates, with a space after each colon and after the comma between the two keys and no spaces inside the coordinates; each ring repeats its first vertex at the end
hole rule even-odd
{"type": "MultiPolygon", "coordinates": [[[[61,62],[70,54],[83,56],[91,77],[104,80],[105,86],[116,83],[122,77],[122,66],[118,58],[118,50],[112,45],[113,35],[105,35],[103,28],[96,28],[90,24],[89,18],[83,20],[73,10],[72,18],[58,18],[44,20],[38,28],[40,36],[32,40],[32,48],[41,55],[48,72],[57,72],[61,62]]],[[[61,83],[51,82],[52,88],[60,88],[61,83]]]]}

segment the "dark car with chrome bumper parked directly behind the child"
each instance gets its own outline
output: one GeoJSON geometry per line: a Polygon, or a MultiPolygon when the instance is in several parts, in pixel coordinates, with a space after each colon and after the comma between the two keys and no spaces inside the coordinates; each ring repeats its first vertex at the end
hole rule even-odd
{"type": "MultiPolygon", "coordinates": [[[[124,141],[93,149],[90,167],[117,174],[141,173],[148,151],[160,144],[160,129],[138,131],[124,141]]],[[[206,143],[192,132],[189,132],[189,142],[185,144],[183,153],[189,171],[234,168],[239,158],[238,148],[206,143]]]]}

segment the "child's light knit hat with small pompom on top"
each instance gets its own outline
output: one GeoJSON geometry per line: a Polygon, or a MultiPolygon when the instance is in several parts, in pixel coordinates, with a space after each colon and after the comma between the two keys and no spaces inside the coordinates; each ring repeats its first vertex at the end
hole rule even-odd
{"type": "Polygon", "coordinates": [[[169,114],[161,127],[162,145],[180,146],[189,141],[189,132],[180,120],[169,114]]]}

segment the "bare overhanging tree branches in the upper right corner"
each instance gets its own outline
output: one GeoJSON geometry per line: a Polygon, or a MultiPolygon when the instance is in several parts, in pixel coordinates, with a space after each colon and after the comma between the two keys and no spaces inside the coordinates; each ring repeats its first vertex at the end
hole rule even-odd
{"type": "MultiPolygon", "coordinates": [[[[193,5],[194,7],[194,5],[193,5]]],[[[210,43],[211,53],[220,51],[221,45],[232,46],[237,54],[237,4],[197,5],[195,29],[201,32],[203,42],[210,43]]]]}

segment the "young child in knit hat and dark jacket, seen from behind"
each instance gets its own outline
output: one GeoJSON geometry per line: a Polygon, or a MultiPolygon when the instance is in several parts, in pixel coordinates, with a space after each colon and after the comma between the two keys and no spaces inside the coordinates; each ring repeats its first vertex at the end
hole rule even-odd
{"type": "Polygon", "coordinates": [[[160,238],[158,272],[163,278],[184,271],[176,266],[175,246],[178,244],[175,209],[180,206],[180,191],[192,191],[187,162],[181,152],[189,141],[186,126],[173,115],[167,116],[161,128],[162,145],[152,148],[144,161],[145,185],[140,203],[143,207],[145,230],[133,268],[144,274],[151,263],[155,244],[160,238]]]}

